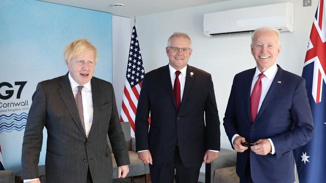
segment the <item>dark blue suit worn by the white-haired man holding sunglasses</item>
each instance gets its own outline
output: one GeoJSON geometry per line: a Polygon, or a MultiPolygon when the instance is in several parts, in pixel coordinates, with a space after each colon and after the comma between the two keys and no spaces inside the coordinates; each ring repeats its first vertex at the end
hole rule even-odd
{"type": "Polygon", "coordinates": [[[294,182],[292,150],[307,143],[313,135],[304,79],[277,66],[277,73],[253,123],[250,89],[255,68],[236,74],[233,80],[223,123],[229,140],[236,133],[250,142],[271,138],[275,147],[273,155],[257,155],[249,149],[238,152],[237,174],[240,179],[245,176],[247,161],[250,160],[254,182],[294,182]]]}

